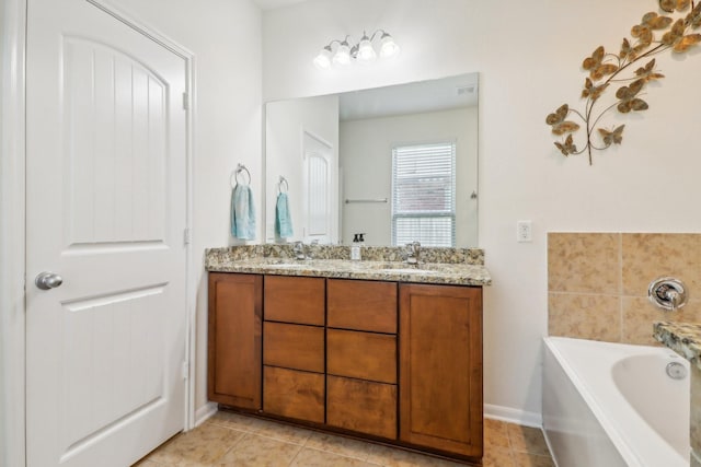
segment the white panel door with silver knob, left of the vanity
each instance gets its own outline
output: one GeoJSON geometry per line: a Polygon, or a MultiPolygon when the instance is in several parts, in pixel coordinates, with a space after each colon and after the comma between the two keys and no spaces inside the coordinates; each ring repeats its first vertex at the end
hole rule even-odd
{"type": "Polygon", "coordinates": [[[128,466],[184,428],[185,85],[92,3],[28,0],[28,467],[128,466]]]}

